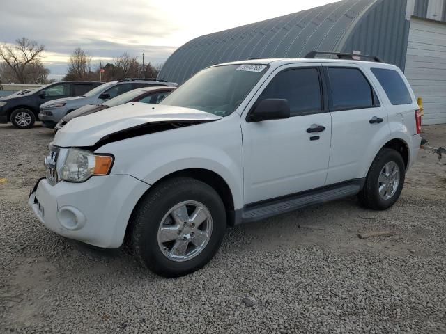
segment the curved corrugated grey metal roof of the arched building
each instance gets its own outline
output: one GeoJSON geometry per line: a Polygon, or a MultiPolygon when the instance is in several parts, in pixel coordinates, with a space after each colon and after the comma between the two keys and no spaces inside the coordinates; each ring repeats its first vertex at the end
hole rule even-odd
{"type": "Polygon", "coordinates": [[[172,54],[160,79],[178,84],[215,63],[249,58],[300,57],[334,51],[351,24],[376,0],[343,0],[302,12],[203,35],[172,54]]]}

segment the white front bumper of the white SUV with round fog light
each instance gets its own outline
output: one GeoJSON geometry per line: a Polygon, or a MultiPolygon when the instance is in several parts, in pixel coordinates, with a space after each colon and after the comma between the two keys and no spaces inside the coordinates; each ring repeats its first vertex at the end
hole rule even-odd
{"type": "Polygon", "coordinates": [[[149,185],[130,175],[94,176],[86,182],[38,181],[29,206],[40,223],[70,239],[118,248],[139,198],[149,185]]]}

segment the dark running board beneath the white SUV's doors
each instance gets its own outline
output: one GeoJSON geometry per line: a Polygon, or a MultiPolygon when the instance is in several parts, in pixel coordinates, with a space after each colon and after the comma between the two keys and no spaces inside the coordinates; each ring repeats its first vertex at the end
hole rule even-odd
{"type": "Polygon", "coordinates": [[[294,196],[286,196],[286,198],[268,200],[260,204],[248,205],[243,209],[241,222],[250,223],[261,219],[292,212],[309,205],[321,204],[332,200],[356,195],[362,188],[363,180],[353,180],[351,182],[343,182],[337,186],[330,186],[314,191],[306,191],[305,193],[296,194],[294,196]]]}

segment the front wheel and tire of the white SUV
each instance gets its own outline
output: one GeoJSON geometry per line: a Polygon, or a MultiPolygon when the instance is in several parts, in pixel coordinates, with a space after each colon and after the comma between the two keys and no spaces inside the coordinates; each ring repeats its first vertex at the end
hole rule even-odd
{"type": "Polygon", "coordinates": [[[176,177],[146,193],[129,223],[139,261],[160,276],[178,277],[197,271],[217,253],[226,210],[208,184],[176,177]]]}

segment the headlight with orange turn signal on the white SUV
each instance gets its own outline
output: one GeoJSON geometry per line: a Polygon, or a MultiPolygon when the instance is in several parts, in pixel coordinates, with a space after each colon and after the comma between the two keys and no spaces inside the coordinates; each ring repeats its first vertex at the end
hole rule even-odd
{"type": "Polygon", "coordinates": [[[113,157],[96,155],[92,152],[68,149],[65,162],[61,168],[61,180],[84,182],[93,175],[107,175],[112,168],[113,157]]]}

